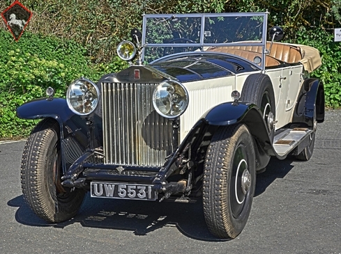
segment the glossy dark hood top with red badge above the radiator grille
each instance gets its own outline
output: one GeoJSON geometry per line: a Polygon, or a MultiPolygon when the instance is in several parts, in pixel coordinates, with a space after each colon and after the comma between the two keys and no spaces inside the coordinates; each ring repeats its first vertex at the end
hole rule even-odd
{"type": "Polygon", "coordinates": [[[185,83],[255,70],[259,69],[238,56],[192,52],[160,58],[149,65],[132,65],[121,72],[103,76],[99,82],[160,83],[167,79],[177,79],[185,83]]]}

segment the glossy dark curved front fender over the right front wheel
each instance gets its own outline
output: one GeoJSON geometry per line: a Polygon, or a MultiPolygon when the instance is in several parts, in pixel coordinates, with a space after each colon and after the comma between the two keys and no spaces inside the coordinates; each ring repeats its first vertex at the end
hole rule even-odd
{"type": "Polygon", "coordinates": [[[211,143],[211,137],[215,130],[219,126],[238,123],[247,125],[251,135],[257,140],[255,149],[257,149],[259,168],[265,167],[269,155],[276,154],[271,145],[262,113],[255,104],[227,102],[204,113],[183,139],[172,158],[161,168],[154,183],[161,184],[165,181],[169,175],[183,166],[182,161],[203,161],[205,150],[211,143]]]}

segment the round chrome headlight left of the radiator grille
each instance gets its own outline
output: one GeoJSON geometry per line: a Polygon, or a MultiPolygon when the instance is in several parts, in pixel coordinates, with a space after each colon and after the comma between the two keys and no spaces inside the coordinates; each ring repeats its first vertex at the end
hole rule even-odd
{"type": "Polygon", "coordinates": [[[79,116],[91,114],[98,105],[100,91],[89,79],[77,79],[73,81],[66,92],[68,106],[79,116]]]}

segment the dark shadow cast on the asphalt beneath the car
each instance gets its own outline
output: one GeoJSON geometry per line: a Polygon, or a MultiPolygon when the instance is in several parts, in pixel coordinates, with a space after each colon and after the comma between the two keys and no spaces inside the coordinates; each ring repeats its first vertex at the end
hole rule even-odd
{"type": "MultiPolygon", "coordinates": [[[[267,170],[257,175],[255,196],[259,196],[277,178],[283,178],[293,166],[291,160],[278,161],[272,159],[267,170]]],[[[257,202],[257,199],[255,200],[257,202]]],[[[81,223],[84,227],[108,228],[113,230],[130,230],[135,235],[146,235],[153,230],[176,227],[183,235],[202,241],[226,241],[211,235],[202,211],[202,202],[183,204],[171,202],[149,202],[139,200],[107,200],[90,198],[89,194],[77,216],[63,223],[46,223],[34,214],[23,196],[10,201],[11,207],[19,207],[15,219],[24,225],[53,226],[64,228],[73,223],[81,223]]]]}

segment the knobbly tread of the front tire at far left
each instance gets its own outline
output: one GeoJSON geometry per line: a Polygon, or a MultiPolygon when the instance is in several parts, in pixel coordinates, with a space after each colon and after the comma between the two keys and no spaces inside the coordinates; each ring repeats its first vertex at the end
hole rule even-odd
{"type": "MultiPolygon", "coordinates": [[[[58,123],[50,118],[38,123],[24,146],[20,170],[25,202],[40,218],[52,223],[65,221],[74,216],[84,197],[84,191],[79,190],[79,194],[75,196],[75,202],[69,204],[74,212],[67,214],[58,204],[56,191],[45,193],[44,184],[48,184],[47,175],[44,174],[45,161],[48,159],[50,144],[57,142],[57,130],[59,130],[58,123]]],[[[52,184],[53,187],[55,189],[54,184],[52,184]]]]}

